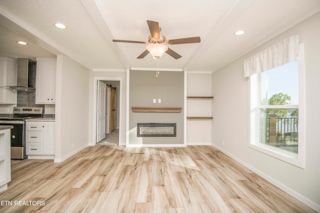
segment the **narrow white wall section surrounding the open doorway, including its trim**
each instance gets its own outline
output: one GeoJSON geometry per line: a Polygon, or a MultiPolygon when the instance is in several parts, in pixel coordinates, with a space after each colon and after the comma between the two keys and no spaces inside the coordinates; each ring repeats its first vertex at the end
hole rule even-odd
{"type": "MultiPolygon", "coordinates": [[[[96,107],[96,80],[121,80],[121,88],[119,88],[119,92],[122,94],[121,100],[119,104],[121,104],[121,111],[119,112],[119,145],[125,145],[125,128],[126,128],[126,71],[94,71],[90,72],[89,76],[89,128],[88,128],[88,144],[95,144],[95,110],[96,107]]],[[[119,98],[120,99],[120,98],[119,98]]],[[[119,107],[120,108],[120,107],[119,107]]]]}

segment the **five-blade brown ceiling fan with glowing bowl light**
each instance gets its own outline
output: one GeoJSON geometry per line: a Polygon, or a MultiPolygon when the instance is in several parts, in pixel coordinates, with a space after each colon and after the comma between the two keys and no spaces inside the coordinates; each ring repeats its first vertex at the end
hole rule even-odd
{"type": "Polygon", "coordinates": [[[143,43],[149,44],[146,50],[142,52],[137,58],[144,58],[148,53],[151,53],[153,58],[159,58],[166,52],[168,55],[172,56],[174,59],[182,57],[172,49],[168,48],[166,45],[170,44],[184,44],[184,43],[199,43],[200,37],[189,37],[189,38],[178,38],[166,40],[164,35],[160,34],[161,27],[156,21],[147,20],[146,21],[150,30],[151,35],[148,37],[148,41],[131,41],[131,40],[117,40],[113,39],[113,42],[124,42],[124,43],[143,43]]]}

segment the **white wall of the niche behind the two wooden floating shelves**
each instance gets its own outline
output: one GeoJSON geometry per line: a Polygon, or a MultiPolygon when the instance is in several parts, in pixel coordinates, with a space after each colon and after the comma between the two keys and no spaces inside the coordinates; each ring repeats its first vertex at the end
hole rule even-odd
{"type": "MultiPolygon", "coordinates": [[[[211,73],[187,73],[187,96],[212,96],[211,73]]],[[[190,117],[210,117],[211,99],[187,99],[186,115],[190,117]]],[[[186,120],[186,144],[210,145],[211,144],[211,120],[187,119],[186,120]]]]}

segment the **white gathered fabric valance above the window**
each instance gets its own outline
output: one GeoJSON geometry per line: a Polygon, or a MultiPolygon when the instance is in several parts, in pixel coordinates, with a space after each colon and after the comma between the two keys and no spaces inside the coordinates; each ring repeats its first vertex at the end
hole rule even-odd
{"type": "Polygon", "coordinates": [[[293,35],[244,60],[244,77],[296,61],[300,35],[293,35]]]}

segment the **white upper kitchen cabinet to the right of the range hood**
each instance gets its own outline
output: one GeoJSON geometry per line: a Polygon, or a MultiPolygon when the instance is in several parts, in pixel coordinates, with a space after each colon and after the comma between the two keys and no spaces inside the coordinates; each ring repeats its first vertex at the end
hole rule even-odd
{"type": "Polygon", "coordinates": [[[55,73],[56,58],[36,58],[36,104],[55,104],[55,73]]]}

